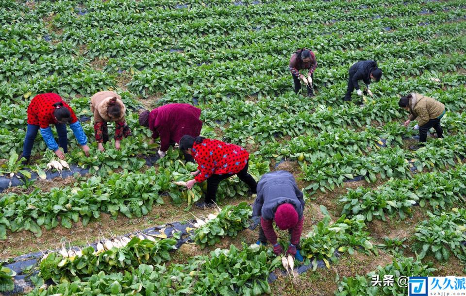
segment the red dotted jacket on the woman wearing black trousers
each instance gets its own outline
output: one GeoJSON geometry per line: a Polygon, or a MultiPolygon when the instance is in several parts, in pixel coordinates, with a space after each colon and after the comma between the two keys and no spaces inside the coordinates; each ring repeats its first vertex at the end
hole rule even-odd
{"type": "Polygon", "coordinates": [[[249,160],[249,153],[238,145],[227,144],[215,139],[204,139],[193,145],[192,153],[200,173],[196,181],[203,182],[213,174],[236,174],[249,160]]]}

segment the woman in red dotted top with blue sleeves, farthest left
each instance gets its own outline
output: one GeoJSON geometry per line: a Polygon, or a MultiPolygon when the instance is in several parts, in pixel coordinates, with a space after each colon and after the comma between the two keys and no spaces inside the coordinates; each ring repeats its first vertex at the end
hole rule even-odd
{"type": "Polygon", "coordinates": [[[39,94],[35,96],[28,107],[28,129],[23,145],[23,157],[29,161],[33,149],[34,139],[40,130],[47,147],[53,151],[60,159],[65,159],[68,151],[67,123],[73,131],[79,145],[83,148],[84,153],[89,156],[89,147],[87,146],[87,137],[76,118],[73,110],[63,99],[54,93],[39,94]],[[55,141],[50,124],[54,124],[58,133],[58,143],[55,141]]]}

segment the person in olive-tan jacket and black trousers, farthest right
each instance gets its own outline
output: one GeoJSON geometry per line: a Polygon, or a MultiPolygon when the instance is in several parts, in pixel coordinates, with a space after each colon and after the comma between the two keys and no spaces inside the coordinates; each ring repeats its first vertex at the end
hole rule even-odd
{"type": "Polygon", "coordinates": [[[434,128],[437,137],[443,138],[443,130],[440,126],[440,119],[445,115],[445,105],[441,102],[420,94],[409,94],[399,99],[398,105],[409,111],[408,120],[404,126],[417,119],[419,127],[419,145],[427,141],[427,132],[434,128]]]}

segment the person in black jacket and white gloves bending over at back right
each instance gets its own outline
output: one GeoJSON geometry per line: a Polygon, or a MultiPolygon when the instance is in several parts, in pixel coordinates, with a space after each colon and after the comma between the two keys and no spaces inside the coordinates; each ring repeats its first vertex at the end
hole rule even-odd
{"type": "Polygon", "coordinates": [[[369,89],[370,82],[372,80],[379,82],[382,78],[382,70],[377,67],[377,63],[372,60],[360,61],[353,64],[348,72],[350,74],[350,79],[348,80],[348,89],[344,100],[351,100],[351,93],[355,88],[358,96],[363,95],[363,92],[359,89],[358,80],[362,80],[366,83],[367,89],[364,91],[364,94],[369,94],[369,96],[372,97],[372,92],[369,89]]]}

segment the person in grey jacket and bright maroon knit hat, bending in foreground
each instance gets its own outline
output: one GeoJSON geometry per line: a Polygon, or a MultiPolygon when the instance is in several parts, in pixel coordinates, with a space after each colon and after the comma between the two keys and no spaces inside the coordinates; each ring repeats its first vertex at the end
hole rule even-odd
{"type": "Polygon", "coordinates": [[[287,171],[270,172],[257,183],[257,198],[252,207],[252,216],[260,216],[258,244],[273,245],[273,252],[280,256],[282,246],[277,242],[273,221],[281,230],[288,230],[291,238],[286,252],[302,261],[299,252],[302,225],[304,223],[304,198],[295,178],[287,171]]]}

